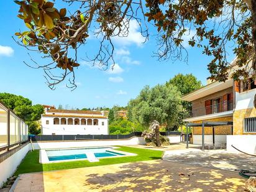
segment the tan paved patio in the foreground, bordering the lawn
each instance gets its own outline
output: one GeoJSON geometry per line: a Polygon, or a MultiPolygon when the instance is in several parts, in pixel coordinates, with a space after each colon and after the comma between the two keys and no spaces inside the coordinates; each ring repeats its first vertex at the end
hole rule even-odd
{"type": "Polygon", "coordinates": [[[14,191],[243,191],[234,171],[152,160],[23,174],[14,191]]]}

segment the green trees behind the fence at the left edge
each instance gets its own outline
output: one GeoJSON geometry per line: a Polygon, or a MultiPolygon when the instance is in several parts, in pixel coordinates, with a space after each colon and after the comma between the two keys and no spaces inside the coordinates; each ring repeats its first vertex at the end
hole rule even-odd
{"type": "Polygon", "coordinates": [[[43,114],[42,105],[32,105],[29,99],[11,93],[0,93],[0,101],[27,123],[30,134],[39,133],[39,124],[36,121],[39,121],[43,114]]]}

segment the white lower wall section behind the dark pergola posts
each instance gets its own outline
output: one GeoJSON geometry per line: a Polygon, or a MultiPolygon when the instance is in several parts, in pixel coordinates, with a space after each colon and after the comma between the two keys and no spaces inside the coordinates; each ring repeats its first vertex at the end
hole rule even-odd
{"type": "MultiPolygon", "coordinates": [[[[215,135],[215,144],[226,144],[227,135],[215,135]]],[[[193,144],[202,145],[202,135],[193,135],[193,144]]],[[[204,135],[204,144],[213,144],[213,135],[204,135]]]]}

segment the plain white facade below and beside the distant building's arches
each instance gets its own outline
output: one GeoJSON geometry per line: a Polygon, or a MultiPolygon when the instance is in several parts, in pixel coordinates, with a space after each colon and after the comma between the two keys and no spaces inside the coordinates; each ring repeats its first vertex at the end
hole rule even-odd
{"type": "Polygon", "coordinates": [[[42,134],[43,135],[107,135],[108,121],[107,119],[98,119],[98,126],[88,125],[63,125],[53,124],[54,117],[42,117],[42,134]],[[49,124],[45,122],[49,121],[49,124]],[[104,126],[102,126],[104,122],[104,126]]]}

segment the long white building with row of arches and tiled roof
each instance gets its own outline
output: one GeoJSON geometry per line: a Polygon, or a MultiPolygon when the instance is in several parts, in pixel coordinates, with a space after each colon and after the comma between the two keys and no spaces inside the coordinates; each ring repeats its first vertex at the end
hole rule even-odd
{"type": "Polygon", "coordinates": [[[43,135],[107,135],[108,120],[100,111],[45,108],[41,118],[43,135]]]}

